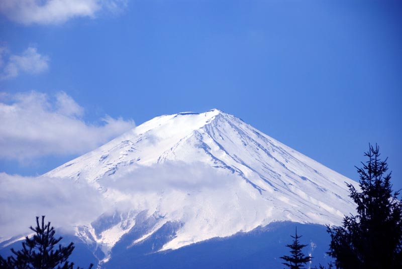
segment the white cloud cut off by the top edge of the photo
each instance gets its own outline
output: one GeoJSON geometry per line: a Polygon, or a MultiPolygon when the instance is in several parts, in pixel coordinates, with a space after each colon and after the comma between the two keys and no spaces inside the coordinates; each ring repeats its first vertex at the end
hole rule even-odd
{"type": "Polygon", "coordinates": [[[128,0],[3,0],[0,13],[29,24],[60,24],[74,17],[94,18],[99,11],[120,12],[128,0]]]}

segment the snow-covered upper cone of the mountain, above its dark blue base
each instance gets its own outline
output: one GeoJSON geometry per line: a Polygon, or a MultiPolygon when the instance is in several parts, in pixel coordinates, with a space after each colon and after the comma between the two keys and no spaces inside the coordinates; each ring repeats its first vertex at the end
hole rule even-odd
{"type": "Polygon", "coordinates": [[[352,180],[218,109],[155,117],[46,176],[87,181],[116,205],[77,227],[104,262],[275,221],[340,224],[355,208],[352,180]]]}

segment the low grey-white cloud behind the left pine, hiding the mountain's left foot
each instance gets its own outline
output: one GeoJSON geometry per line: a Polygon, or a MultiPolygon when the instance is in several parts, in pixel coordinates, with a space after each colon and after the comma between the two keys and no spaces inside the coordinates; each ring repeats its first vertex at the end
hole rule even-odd
{"type": "Polygon", "coordinates": [[[35,217],[46,215],[55,227],[71,230],[91,222],[107,208],[107,201],[84,182],[0,173],[0,238],[29,233],[35,217]]]}

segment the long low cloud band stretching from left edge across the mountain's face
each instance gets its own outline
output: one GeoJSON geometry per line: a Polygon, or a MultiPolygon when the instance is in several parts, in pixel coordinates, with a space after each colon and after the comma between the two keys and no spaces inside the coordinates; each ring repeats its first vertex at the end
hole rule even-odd
{"type": "Polygon", "coordinates": [[[88,225],[105,212],[134,209],[174,214],[183,206],[192,211],[194,199],[232,203],[231,189],[236,182],[232,174],[219,173],[205,164],[177,162],[133,166],[92,184],[0,173],[0,242],[29,233],[35,216],[46,215],[54,227],[72,232],[73,226],[88,225]]]}

